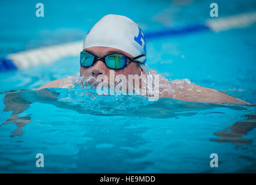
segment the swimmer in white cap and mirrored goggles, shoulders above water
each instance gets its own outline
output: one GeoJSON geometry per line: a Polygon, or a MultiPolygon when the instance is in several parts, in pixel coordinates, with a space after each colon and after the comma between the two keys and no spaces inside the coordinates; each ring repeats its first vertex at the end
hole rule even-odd
{"type": "MultiPolygon", "coordinates": [[[[138,24],[125,16],[109,14],[104,16],[86,34],[83,50],[80,54],[80,73],[82,76],[110,75],[143,75],[151,70],[146,67],[146,42],[138,24]]],[[[43,88],[61,88],[70,77],[57,79],[35,90],[43,88]]],[[[128,79],[128,78],[127,78],[128,79]]],[[[241,103],[250,104],[212,88],[190,83],[188,79],[167,80],[161,83],[171,84],[171,91],[160,88],[161,97],[181,101],[205,103],[241,103]]],[[[65,86],[65,88],[70,88],[65,86]]]]}

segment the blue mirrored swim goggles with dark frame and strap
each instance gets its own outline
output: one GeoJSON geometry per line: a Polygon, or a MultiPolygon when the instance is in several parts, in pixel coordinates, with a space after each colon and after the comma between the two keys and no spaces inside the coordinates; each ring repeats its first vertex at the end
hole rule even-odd
{"type": "Polygon", "coordinates": [[[89,67],[89,66],[92,66],[94,62],[100,60],[100,61],[103,61],[107,65],[107,67],[109,67],[110,69],[122,69],[128,66],[132,61],[143,64],[142,62],[136,61],[137,58],[140,58],[143,56],[145,56],[145,54],[142,54],[134,58],[127,57],[123,54],[111,54],[109,56],[99,58],[97,56],[94,56],[91,53],[82,51],[80,53],[80,65],[83,67],[89,67]]]}

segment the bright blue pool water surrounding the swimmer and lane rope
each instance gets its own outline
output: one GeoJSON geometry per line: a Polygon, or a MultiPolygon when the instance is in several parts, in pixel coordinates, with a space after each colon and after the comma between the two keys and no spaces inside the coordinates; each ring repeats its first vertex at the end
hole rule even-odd
{"type": "MultiPolygon", "coordinates": [[[[219,17],[256,11],[255,1],[215,2],[219,17]]],[[[210,3],[45,1],[45,17],[38,18],[32,1],[1,1],[0,55],[82,40],[109,13],[131,18],[145,32],[204,23],[210,3]]],[[[256,104],[255,28],[149,39],[147,64],[168,79],[190,79],[256,104]]],[[[0,73],[0,92],[8,92],[0,94],[1,173],[256,172],[254,105],[149,102],[79,88],[31,91],[79,68],[79,57],[67,57],[0,73]],[[37,153],[45,168],[35,166],[37,153]],[[218,168],[210,166],[211,153],[218,154],[218,168]]]]}

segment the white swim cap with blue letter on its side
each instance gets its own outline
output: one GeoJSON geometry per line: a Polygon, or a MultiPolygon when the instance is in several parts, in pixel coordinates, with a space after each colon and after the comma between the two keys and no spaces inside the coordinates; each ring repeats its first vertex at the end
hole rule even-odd
{"type": "Polygon", "coordinates": [[[109,14],[96,23],[84,39],[84,49],[92,46],[114,47],[134,57],[145,54],[136,60],[145,64],[146,42],[138,24],[125,16],[109,14]]]}

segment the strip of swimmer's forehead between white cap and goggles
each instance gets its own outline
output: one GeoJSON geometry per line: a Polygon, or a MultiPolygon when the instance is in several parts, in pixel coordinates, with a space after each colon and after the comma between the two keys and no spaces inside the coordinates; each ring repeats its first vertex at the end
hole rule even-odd
{"type": "Polygon", "coordinates": [[[134,56],[132,56],[131,54],[116,49],[114,47],[98,47],[98,46],[93,46],[93,47],[88,47],[86,49],[84,49],[83,51],[88,51],[89,53],[92,53],[98,57],[104,57],[110,54],[124,54],[125,56],[131,57],[133,58],[134,56]]]}

